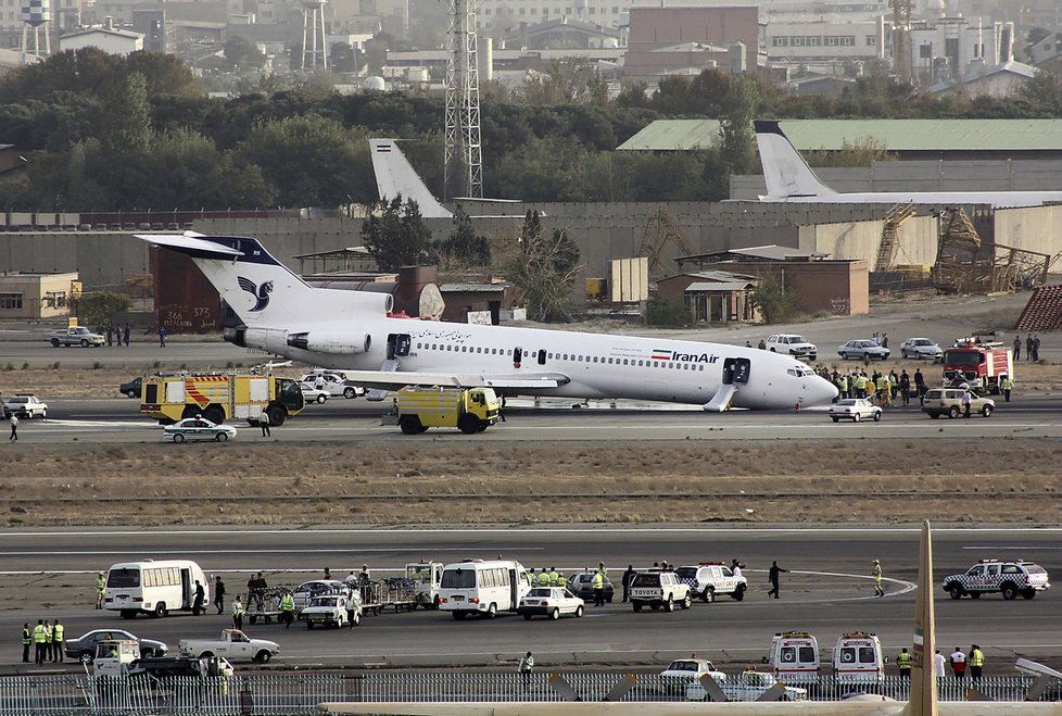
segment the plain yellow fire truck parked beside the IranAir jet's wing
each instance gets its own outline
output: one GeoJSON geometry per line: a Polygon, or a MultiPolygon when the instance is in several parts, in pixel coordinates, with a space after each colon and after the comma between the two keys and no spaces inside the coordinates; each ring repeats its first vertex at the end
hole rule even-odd
{"type": "Polygon", "coordinates": [[[501,403],[492,388],[403,388],[385,423],[397,423],[406,435],[428,428],[482,432],[497,423],[501,403]]]}

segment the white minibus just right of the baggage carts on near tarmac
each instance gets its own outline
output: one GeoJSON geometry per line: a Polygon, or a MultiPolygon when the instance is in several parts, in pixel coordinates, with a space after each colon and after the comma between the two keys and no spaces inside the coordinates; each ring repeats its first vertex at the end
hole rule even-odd
{"type": "Polygon", "coordinates": [[[439,608],[455,619],[469,614],[493,618],[498,612],[516,612],[531,588],[531,578],[519,562],[469,560],[443,567],[439,608]]]}

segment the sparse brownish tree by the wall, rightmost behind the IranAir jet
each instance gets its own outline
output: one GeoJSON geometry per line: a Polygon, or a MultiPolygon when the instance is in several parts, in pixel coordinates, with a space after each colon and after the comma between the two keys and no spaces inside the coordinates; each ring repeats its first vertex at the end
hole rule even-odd
{"type": "Polygon", "coordinates": [[[532,321],[571,321],[568,306],[572,286],[581,271],[579,247],[567,229],[547,235],[539,212],[529,211],[520,227],[520,253],[510,262],[508,275],[523,290],[528,317],[532,321]]]}

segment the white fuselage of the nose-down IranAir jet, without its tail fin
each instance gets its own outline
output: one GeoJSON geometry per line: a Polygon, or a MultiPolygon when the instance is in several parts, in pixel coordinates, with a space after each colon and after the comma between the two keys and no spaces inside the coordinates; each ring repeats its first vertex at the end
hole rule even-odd
{"type": "MultiPolygon", "coordinates": [[[[334,334],[336,327],[329,330],[334,334]]],[[[314,335],[313,326],[300,326],[299,331],[314,335]]],[[[388,317],[358,321],[351,332],[359,344],[368,336],[369,349],[337,353],[293,348],[287,344],[289,334],[279,328],[250,330],[245,340],[250,348],[337,369],[379,370],[393,359],[400,375],[565,377],[557,387],[496,389],[502,394],[706,404],[724,382],[736,382],[731,405],[748,409],[824,403],[836,394],[832,384],[789,356],[720,343],[388,317]]]]}

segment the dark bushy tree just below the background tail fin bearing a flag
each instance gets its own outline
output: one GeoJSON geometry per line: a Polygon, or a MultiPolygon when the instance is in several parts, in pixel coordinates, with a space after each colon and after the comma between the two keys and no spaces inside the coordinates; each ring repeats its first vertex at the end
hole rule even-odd
{"type": "Polygon", "coordinates": [[[425,266],[437,260],[431,231],[413,199],[403,203],[400,196],[378,202],[362,224],[362,239],[380,271],[425,266]]]}

